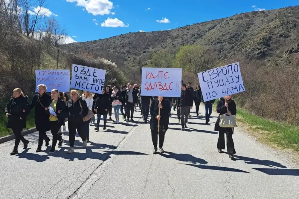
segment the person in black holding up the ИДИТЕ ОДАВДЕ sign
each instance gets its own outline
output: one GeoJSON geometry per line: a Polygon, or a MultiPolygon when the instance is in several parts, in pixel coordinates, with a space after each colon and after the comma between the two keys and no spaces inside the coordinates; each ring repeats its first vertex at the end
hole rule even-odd
{"type": "Polygon", "coordinates": [[[159,134],[159,148],[160,152],[164,153],[163,143],[165,132],[168,129],[169,124],[169,111],[171,110],[170,102],[166,98],[158,97],[152,101],[149,112],[151,114],[151,118],[149,121],[150,129],[152,132],[152,143],[154,145],[153,154],[157,153],[157,145],[158,145],[158,134],[159,134]],[[160,98],[160,102],[158,100],[160,98]],[[159,116],[159,107],[160,107],[160,116],[159,116]],[[158,132],[158,120],[160,120],[160,128],[158,132]]]}

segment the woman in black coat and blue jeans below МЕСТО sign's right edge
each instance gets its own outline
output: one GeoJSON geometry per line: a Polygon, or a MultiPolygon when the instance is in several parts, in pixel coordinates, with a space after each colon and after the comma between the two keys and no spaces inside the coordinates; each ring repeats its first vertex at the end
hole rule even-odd
{"type": "Polygon", "coordinates": [[[99,130],[99,125],[100,125],[100,120],[102,115],[104,120],[103,130],[106,129],[107,114],[108,114],[109,107],[111,107],[110,101],[111,101],[110,95],[106,93],[105,89],[103,89],[102,94],[97,97],[97,102],[94,105],[94,111],[97,113],[97,127],[95,128],[95,130],[97,131],[99,130]]]}

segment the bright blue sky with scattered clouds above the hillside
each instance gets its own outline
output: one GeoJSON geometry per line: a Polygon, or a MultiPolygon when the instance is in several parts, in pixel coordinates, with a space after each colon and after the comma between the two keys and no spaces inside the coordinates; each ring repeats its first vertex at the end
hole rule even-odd
{"type": "Polygon", "coordinates": [[[84,42],[139,30],[174,29],[240,12],[297,4],[298,0],[48,0],[47,8],[65,25],[68,36],[84,42]]]}

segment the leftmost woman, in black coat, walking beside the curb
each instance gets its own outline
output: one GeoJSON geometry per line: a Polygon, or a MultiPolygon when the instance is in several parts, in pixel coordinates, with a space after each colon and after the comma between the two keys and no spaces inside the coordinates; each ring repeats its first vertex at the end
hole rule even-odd
{"type": "Polygon", "coordinates": [[[29,141],[25,140],[21,132],[23,128],[26,128],[26,119],[29,113],[30,105],[28,103],[28,97],[24,97],[21,89],[15,88],[13,90],[13,96],[5,107],[5,115],[8,117],[7,128],[12,128],[13,134],[16,136],[15,146],[10,155],[18,154],[18,146],[21,140],[24,143],[23,149],[27,149],[28,147],[29,141]]]}

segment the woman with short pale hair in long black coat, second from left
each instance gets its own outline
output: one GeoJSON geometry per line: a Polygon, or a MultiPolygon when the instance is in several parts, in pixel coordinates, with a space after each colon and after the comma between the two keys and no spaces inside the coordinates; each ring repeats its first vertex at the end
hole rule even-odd
{"type": "Polygon", "coordinates": [[[42,150],[44,140],[46,142],[45,146],[49,146],[50,138],[47,136],[46,131],[50,131],[50,114],[49,111],[46,111],[45,109],[48,108],[51,97],[46,94],[46,85],[40,84],[37,86],[37,89],[39,94],[33,96],[30,104],[30,110],[35,107],[35,126],[38,131],[38,145],[36,152],[38,153],[42,150]]]}

